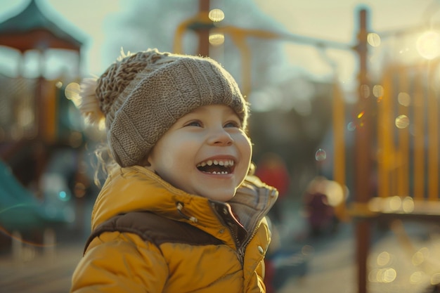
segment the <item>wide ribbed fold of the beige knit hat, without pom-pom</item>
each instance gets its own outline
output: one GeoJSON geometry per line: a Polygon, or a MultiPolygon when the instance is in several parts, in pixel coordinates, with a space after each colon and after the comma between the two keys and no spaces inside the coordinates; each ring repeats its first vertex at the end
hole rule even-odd
{"type": "Polygon", "coordinates": [[[138,72],[109,117],[112,155],[122,167],[138,164],[177,119],[202,105],[231,107],[245,127],[245,99],[231,74],[214,60],[186,56],[153,72],[138,72]]]}

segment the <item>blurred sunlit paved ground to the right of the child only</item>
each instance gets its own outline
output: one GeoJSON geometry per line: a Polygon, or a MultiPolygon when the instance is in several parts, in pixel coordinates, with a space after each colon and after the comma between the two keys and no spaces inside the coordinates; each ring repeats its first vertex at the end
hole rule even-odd
{"type": "MultiPolygon", "coordinates": [[[[290,215],[281,232],[284,243],[304,230],[304,219],[290,215]]],[[[396,222],[390,229],[376,226],[372,232],[368,292],[431,293],[431,281],[440,282],[439,225],[396,222]]],[[[313,247],[308,249],[312,253],[307,258],[306,273],[299,275],[294,270],[277,293],[358,292],[353,235],[353,223],[344,223],[334,235],[294,240],[294,246],[313,247]]]]}

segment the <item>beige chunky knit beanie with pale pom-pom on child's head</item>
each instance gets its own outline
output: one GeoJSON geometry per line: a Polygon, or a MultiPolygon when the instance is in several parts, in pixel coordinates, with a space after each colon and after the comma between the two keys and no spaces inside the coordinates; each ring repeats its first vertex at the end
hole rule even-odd
{"type": "Polygon", "coordinates": [[[248,105],[237,83],[211,58],[148,49],[122,56],[98,79],[84,79],[79,109],[105,121],[121,167],[141,162],[177,119],[202,105],[227,105],[245,129],[248,105]]]}

